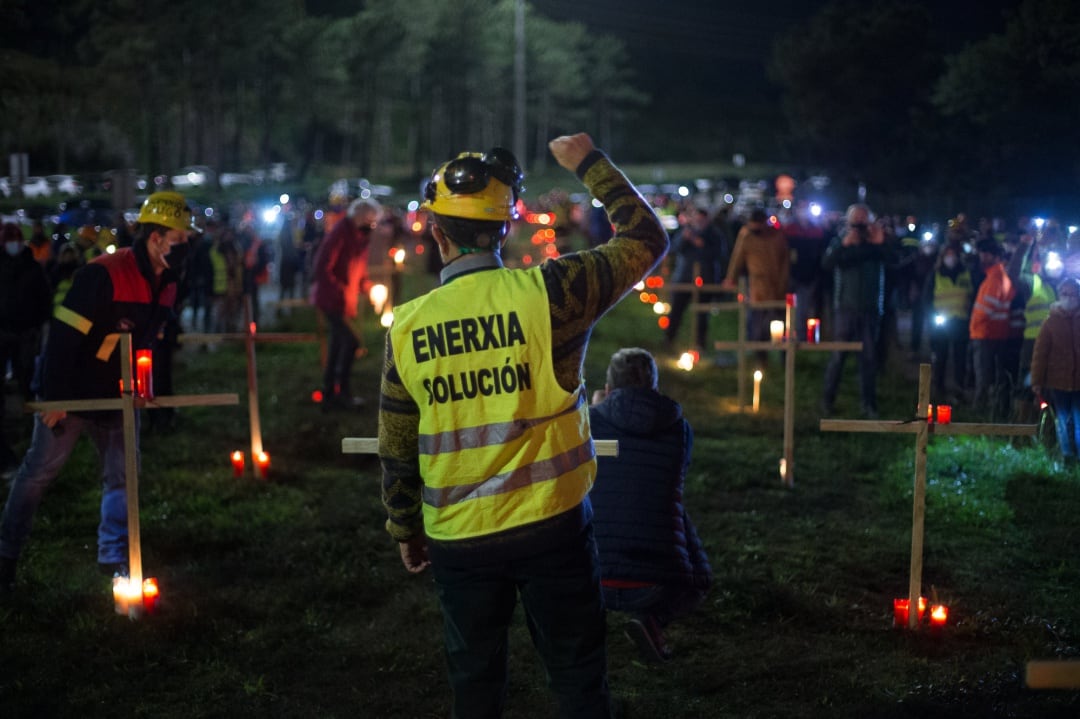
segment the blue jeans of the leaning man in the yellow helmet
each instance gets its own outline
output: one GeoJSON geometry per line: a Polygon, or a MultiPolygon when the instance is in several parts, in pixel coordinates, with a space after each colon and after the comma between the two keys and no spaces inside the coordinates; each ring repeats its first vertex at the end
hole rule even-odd
{"type": "Polygon", "coordinates": [[[97,448],[104,465],[102,520],[97,527],[97,560],[103,564],[127,561],[127,487],[124,472],[123,417],[120,412],[100,412],[93,418],[68,415],[56,426],[59,428],[58,431],[50,430],[42,424],[41,418],[35,415],[30,448],[12,480],[3,519],[0,520],[0,557],[18,558],[30,534],[33,513],[41,504],[45,489],[59,474],[79,437],[85,432],[97,448]]]}

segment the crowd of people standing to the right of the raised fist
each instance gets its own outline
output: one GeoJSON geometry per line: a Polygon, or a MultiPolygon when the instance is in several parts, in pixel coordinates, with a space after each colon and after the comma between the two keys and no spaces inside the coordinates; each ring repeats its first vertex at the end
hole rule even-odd
{"type": "MultiPolygon", "coordinates": [[[[1075,230],[1027,217],[1013,225],[984,218],[973,228],[963,215],[926,226],[912,216],[876,217],[862,203],[843,215],[811,209],[797,202],[771,216],[760,208],[733,216],[688,203],[676,211],[669,279],[700,279],[707,289],[724,277],[719,287],[729,291],[745,279],[752,302],[795,295],[800,337],[807,320],[818,317],[822,339],[863,343],[865,417],[878,413],[878,377],[904,361],[931,361],[932,396],[981,419],[1031,421],[1040,401],[1051,399],[1034,390],[1031,357],[1051,311],[1064,311],[1059,283],[1080,271],[1075,230]]],[[[700,293],[702,302],[714,298],[700,293]]],[[[665,329],[672,350],[688,306],[688,291],[673,294],[665,329]]],[[[767,339],[769,321],[779,317],[751,310],[747,338],[767,339]]],[[[699,351],[707,322],[699,312],[690,339],[699,351]]],[[[846,354],[835,353],[825,370],[825,416],[835,411],[846,354]]]]}

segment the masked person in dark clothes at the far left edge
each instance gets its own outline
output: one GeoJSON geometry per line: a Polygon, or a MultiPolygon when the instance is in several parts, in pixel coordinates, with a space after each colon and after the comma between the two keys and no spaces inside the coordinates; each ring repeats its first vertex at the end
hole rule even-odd
{"type": "MultiPolygon", "coordinates": [[[[11,363],[23,396],[29,396],[33,355],[41,342],[41,326],[49,318],[49,280],[14,222],[0,228],[0,384],[11,363]]],[[[11,476],[18,457],[4,431],[4,392],[0,386],[0,474],[11,476]]]]}

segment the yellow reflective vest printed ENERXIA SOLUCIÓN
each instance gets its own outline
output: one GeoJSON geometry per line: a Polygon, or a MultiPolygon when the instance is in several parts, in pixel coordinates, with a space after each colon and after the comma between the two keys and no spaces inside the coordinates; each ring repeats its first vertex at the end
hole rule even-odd
{"type": "Polygon", "coordinates": [[[394,310],[399,375],[420,408],[428,537],[454,541],[580,504],[596,459],[584,384],[555,379],[539,268],[459,275],[394,310]]]}

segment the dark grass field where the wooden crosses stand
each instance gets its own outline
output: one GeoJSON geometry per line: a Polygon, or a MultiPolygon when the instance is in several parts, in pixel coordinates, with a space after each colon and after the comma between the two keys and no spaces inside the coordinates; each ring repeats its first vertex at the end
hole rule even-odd
{"type": "MultiPolygon", "coordinates": [[[[723,320],[714,338],[731,331],[723,320]]],[[[300,309],[276,328],[314,326],[300,309]]],[[[374,326],[365,336],[355,389],[368,405],[354,415],[312,403],[315,347],[260,348],[266,481],[235,479],[229,465],[247,437],[242,348],[178,354],[177,392],[240,392],[241,407],[185,409],[175,432],[144,436],[156,615],[112,611],[95,567],[97,462],[80,446],[37,515],[15,595],[0,603],[0,716],[448,716],[431,579],[405,572],[382,529],[377,461],[340,452],[341,437],[376,432],[382,337],[374,326]]],[[[629,298],[596,329],[591,389],[613,350],[659,352],[660,340],[654,315],[629,298]]],[[[797,481],[785,489],[780,360],[761,411],[739,415],[733,369],[683,372],[662,358],[661,389],[696,431],[686,504],[716,584],[671,627],[676,655],[661,667],[642,664],[609,615],[621,716],[1080,716],[1077,692],[1023,682],[1028,660],[1080,657],[1080,478],[1055,473],[1030,440],[933,439],[924,593],[949,606],[949,625],[942,636],[896,630],[914,439],[819,432],[826,357],[800,356],[797,481]]],[[[912,413],[914,376],[902,360],[882,374],[882,417],[912,413]]],[[[837,412],[855,417],[858,406],[849,363],[837,412]]],[[[511,662],[508,716],[554,717],[519,610],[511,662]]]]}

